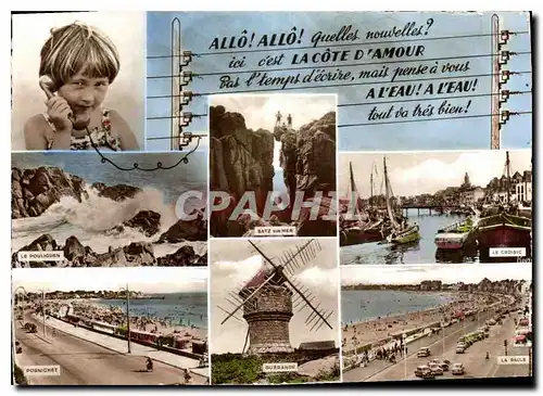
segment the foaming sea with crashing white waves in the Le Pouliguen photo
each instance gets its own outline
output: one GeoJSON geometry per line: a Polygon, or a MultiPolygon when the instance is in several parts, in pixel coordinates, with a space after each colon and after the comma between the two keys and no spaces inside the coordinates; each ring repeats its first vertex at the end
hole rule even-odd
{"type": "MultiPolygon", "coordinates": [[[[122,167],[130,167],[138,163],[140,167],[152,167],[156,162],[164,166],[175,164],[180,153],[108,153],[105,154],[122,167]]],[[[142,171],[118,170],[111,164],[102,164],[93,152],[63,153],[13,153],[12,167],[20,169],[54,166],[65,173],[85,179],[89,199],[79,203],[77,200],[63,196],[59,203],[51,205],[41,216],[12,220],[12,253],[33,242],[43,233],[51,234],[63,245],[65,240],[75,235],[84,245],[89,245],[97,253],[129,244],[132,241],[154,242],[160,233],[167,231],[178,219],[180,210],[179,196],[187,191],[202,191],[206,186],[206,155],[194,153],[188,164],[182,163],[174,169],[142,171]],[[103,182],[106,186],[128,184],[139,187],[143,191],[132,199],[114,202],[98,196],[90,186],[103,182]],[[148,238],[141,232],[125,228],[123,232],[110,232],[112,228],[129,220],[140,210],[154,210],[161,214],[161,230],[148,238]]],[[[203,196],[205,200],[205,195],[203,196]]],[[[204,201],[205,202],[205,201],[204,201]]],[[[192,207],[201,207],[202,200],[189,200],[186,212],[192,207]]],[[[205,242],[192,243],[198,254],[205,252],[205,242]]],[[[179,245],[154,245],[155,256],[175,252],[179,245]]]]}

